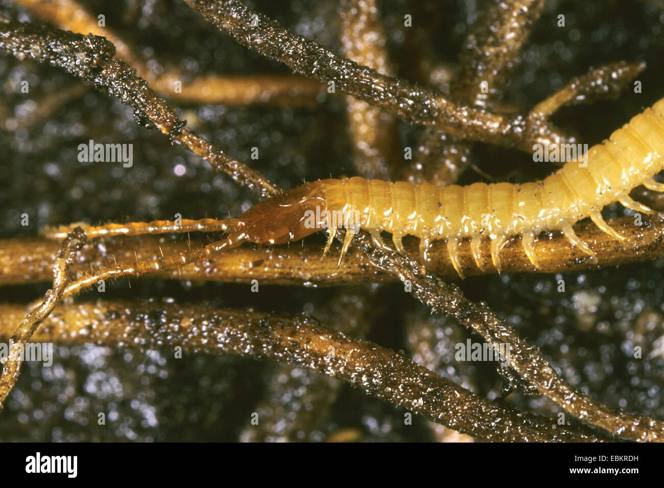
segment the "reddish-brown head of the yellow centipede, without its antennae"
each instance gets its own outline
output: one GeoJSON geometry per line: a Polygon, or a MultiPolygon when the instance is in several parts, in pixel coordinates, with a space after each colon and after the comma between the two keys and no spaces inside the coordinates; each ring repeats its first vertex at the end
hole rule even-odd
{"type": "Polygon", "coordinates": [[[321,230],[319,216],[325,200],[316,182],[258,203],[240,216],[250,242],[283,244],[321,230]]]}

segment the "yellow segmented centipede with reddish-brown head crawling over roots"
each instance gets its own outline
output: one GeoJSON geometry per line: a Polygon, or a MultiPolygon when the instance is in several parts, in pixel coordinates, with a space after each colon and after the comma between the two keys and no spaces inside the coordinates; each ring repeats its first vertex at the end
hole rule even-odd
{"type": "MultiPolygon", "coordinates": [[[[461,278],[463,270],[458,258],[461,240],[470,240],[471,254],[480,270],[485,270],[488,264],[481,254],[482,242],[491,240],[491,261],[500,272],[501,249],[510,238],[520,237],[527,258],[539,270],[534,242],[542,231],[562,232],[588,256],[595,254],[572,228],[579,220],[590,217],[600,230],[624,240],[604,221],[601,210],[619,202],[636,212],[652,213],[651,208],[631,199],[629,192],[638,185],[664,191],[664,184],[653,179],[663,169],[663,155],[664,98],[614,131],[609,139],[591,147],[586,155],[568,161],[556,173],[537,182],[436,187],[361,177],[323,179],[262,201],[239,218],[182,220],[177,224],[132,222],[86,226],[85,230],[93,238],[220,230],[229,234],[214,246],[214,250],[222,250],[244,242],[284,244],[327,229],[325,256],[341,227],[333,216],[340,215],[345,217],[343,226],[347,228],[340,263],[357,231],[367,230],[374,245],[380,248],[389,249],[381,232],[392,234],[394,248],[403,254],[406,253],[404,236],[419,238],[423,265],[428,260],[431,243],[445,240],[450,261],[461,278]]],[[[62,238],[71,227],[61,226],[44,233],[62,238]]]]}

